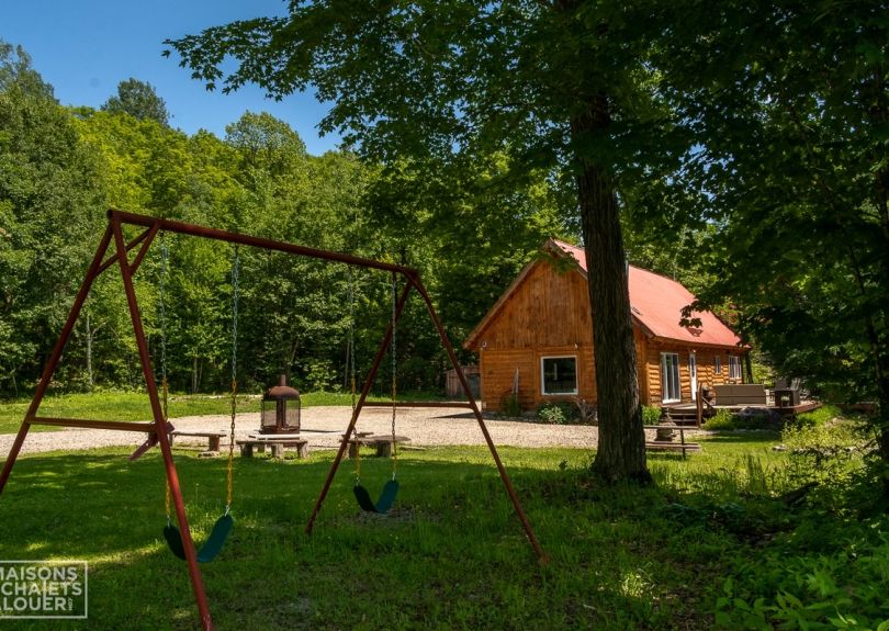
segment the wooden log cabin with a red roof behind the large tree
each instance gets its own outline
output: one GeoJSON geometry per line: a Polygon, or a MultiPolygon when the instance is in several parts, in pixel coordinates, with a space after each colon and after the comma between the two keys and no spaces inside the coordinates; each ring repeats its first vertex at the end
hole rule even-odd
{"type": "MultiPolygon", "coordinates": [[[[464,342],[479,353],[484,409],[551,401],[596,402],[593,317],[582,248],[549,239],[464,342]]],[[[742,383],[750,349],[710,312],[700,327],[679,325],[695,296],[682,284],[629,266],[630,305],[644,405],[691,403],[698,384],[742,383]]]]}

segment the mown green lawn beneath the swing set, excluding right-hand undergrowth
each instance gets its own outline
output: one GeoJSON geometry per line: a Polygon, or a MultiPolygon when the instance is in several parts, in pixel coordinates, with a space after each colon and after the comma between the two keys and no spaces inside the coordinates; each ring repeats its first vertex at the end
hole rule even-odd
{"type": "MultiPolygon", "coordinates": [[[[709,547],[674,557],[677,542],[633,523],[638,499],[603,503],[553,493],[589,455],[505,449],[503,458],[552,562],[541,567],[483,449],[404,452],[396,509],[361,514],[345,463],[308,538],[303,528],[329,467],[307,461],[236,461],[236,526],[220,557],[202,566],[220,629],[576,629],[706,627],[700,595],[718,577],[709,547]],[[561,467],[560,467],[561,464],[561,467]],[[666,545],[665,545],[666,543],[666,545]]],[[[669,459],[669,457],[666,457],[669,459]]],[[[225,459],[178,457],[198,539],[222,510],[225,459]]],[[[671,459],[674,460],[674,459],[671,459]]],[[[363,460],[382,488],[387,461],[363,460]]],[[[641,497],[635,497],[641,493],[641,497]]],[[[127,463],[124,450],[21,459],[0,497],[2,559],[90,563],[90,619],[54,629],[191,629],[185,565],[165,548],[164,482],[156,454],[127,463]]],[[[45,629],[45,622],[16,623],[45,629]]]]}

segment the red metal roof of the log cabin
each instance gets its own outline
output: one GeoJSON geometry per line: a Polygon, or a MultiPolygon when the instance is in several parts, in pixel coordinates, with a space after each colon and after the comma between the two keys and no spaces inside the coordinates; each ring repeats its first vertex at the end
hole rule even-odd
{"type": "MultiPolygon", "coordinates": [[[[586,272],[586,255],[583,248],[550,239],[550,244],[571,255],[586,272]]],[[[739,347],[741,338],[710,312],[693,312],[701,326],[679,325],[683,307],[695,302],[695,295],[680,283],[661,274],[630,266],[630,307],[633,317],[648,333],[657,338],[680,340],[687,343],[739,347]]]]}

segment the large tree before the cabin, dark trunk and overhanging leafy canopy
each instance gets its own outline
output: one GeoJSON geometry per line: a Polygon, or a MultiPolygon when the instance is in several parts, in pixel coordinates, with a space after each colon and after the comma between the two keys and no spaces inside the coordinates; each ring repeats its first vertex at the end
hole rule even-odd
{"type": "Polygon", "coordinates": [[[517,181],[573,181],[599,314],[595,467],[648,480],[616,191],[685,149],[646,64],[659,18],[623,2],[328,0],[168,43],[211,89],[256,82],[282,98],[316,87],[335,102],[322,128],[387,166],[505,153],[517,181]],[[229,55],[238,65],[226,74],[229,55]]]}

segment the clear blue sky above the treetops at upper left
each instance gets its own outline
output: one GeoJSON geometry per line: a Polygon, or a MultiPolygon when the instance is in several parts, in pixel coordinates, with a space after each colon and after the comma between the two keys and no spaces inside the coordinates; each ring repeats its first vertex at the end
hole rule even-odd
{"type": "Polygon", "coordinates": [[[65,105],[99,108],[116,93],[117,83],[134,77],[155,87],[167,103],[170,124],[188,134],[204,128],[223,137],[225,126],[244,112],[269,112],[318,155],[335,149],[339,138],[318,136],[327,106],[314,94],[275,102],[252,86],[227,95],[207,92],[179,67],[175,54],[161,56],[166,38],[285,12],[283,0],[0,0],[0,40],[24,47],[65,105]]]}

